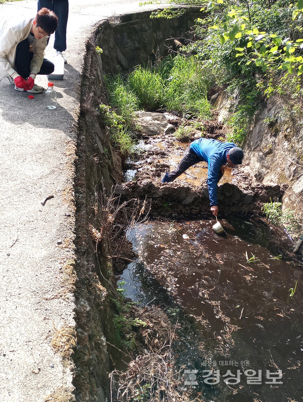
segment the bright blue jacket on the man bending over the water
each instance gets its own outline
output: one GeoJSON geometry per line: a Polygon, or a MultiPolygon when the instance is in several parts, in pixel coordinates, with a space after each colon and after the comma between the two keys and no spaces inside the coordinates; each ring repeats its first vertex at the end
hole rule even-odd
{"type": "Polygon", "coordinates": [[[199,138],[190,144],[190,149],[208,164],[208,187],[211,206],[218,205],[217,184],[222,165],[227,162],[229,149],[237,146],[233,142],[220,142],[216,139],[199,138]]]}

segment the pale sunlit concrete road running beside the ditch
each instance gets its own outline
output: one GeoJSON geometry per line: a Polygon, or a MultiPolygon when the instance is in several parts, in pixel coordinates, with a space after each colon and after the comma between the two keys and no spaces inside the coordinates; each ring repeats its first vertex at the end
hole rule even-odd
{"type": "MultiPolygon", "coordinates": [[[[36,8],[36,0],[1,4],[0,23],[35,16],[36,8]]],[[[57,110],[45,109],[44,94],[29,99],[7,79],[0,82],[2,402],[42,402],[56,389],[73,389],[71,370],[52,339],[75,325],[64,270],[74,259],[73,164],[84,45],[98,21],[139,10],[138,0],[70,0],[68,64],[64,80],[55,81],[57,110]]],[[[46,56],[55,54],[52,40],[46,56]]],[[[36,82],[47,86],[45,76],[36,82]]]]}

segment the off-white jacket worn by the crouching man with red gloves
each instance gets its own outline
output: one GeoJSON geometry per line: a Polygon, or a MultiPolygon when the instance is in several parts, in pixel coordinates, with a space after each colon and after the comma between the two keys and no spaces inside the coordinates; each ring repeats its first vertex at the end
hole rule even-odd
{"type": "MultiPolygon", "coordinates": [[[[14,22],[13,19],[4,22],[0,27],[0,78],[16,73],[14,69],[17,44],[26,39],[30,33],[34,18],[14,22]]],[[[47,37],[34,38],[32,51],[34,53],[30,64],[30,72],[37,74],[40,71],[47,37]]],[[[17,74],[15,74],[17,76],[17,74]]]]}

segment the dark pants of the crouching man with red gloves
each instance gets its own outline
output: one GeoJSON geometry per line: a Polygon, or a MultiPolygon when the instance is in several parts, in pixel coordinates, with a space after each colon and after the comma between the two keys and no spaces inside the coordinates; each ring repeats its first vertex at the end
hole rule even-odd
{"type": "MultiPolygon", "coordinates": [[[[34,54],[29,50],[29,40],[24,39],[22,42],[18,43],[16,49],[16,58],[14,69],[17,71],[22,78],[27,79],[30,75],[30,63],[32,61],[34,54]]],[[[49,60],[43,59],[40,71],[38,74],[52,74],[55,66],[49,60]]]]}

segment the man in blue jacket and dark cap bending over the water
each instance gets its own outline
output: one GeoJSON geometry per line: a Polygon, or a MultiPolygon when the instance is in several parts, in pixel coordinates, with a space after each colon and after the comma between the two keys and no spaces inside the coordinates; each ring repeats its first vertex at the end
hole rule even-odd
{"type": "Polygon", "coordinates": [[[220,142],[216,139],[199,138],[188,146],[181,162],[176,170],[165,173],[162,183],[175,180],[190,166],[198,162],[208,164],[208,187],[211,202],[211,211],[214,216],[218,215],[217,184],[224,173],[224,165],[233,168],[241,165],[243,151],[233,142],[220,142]]]}

